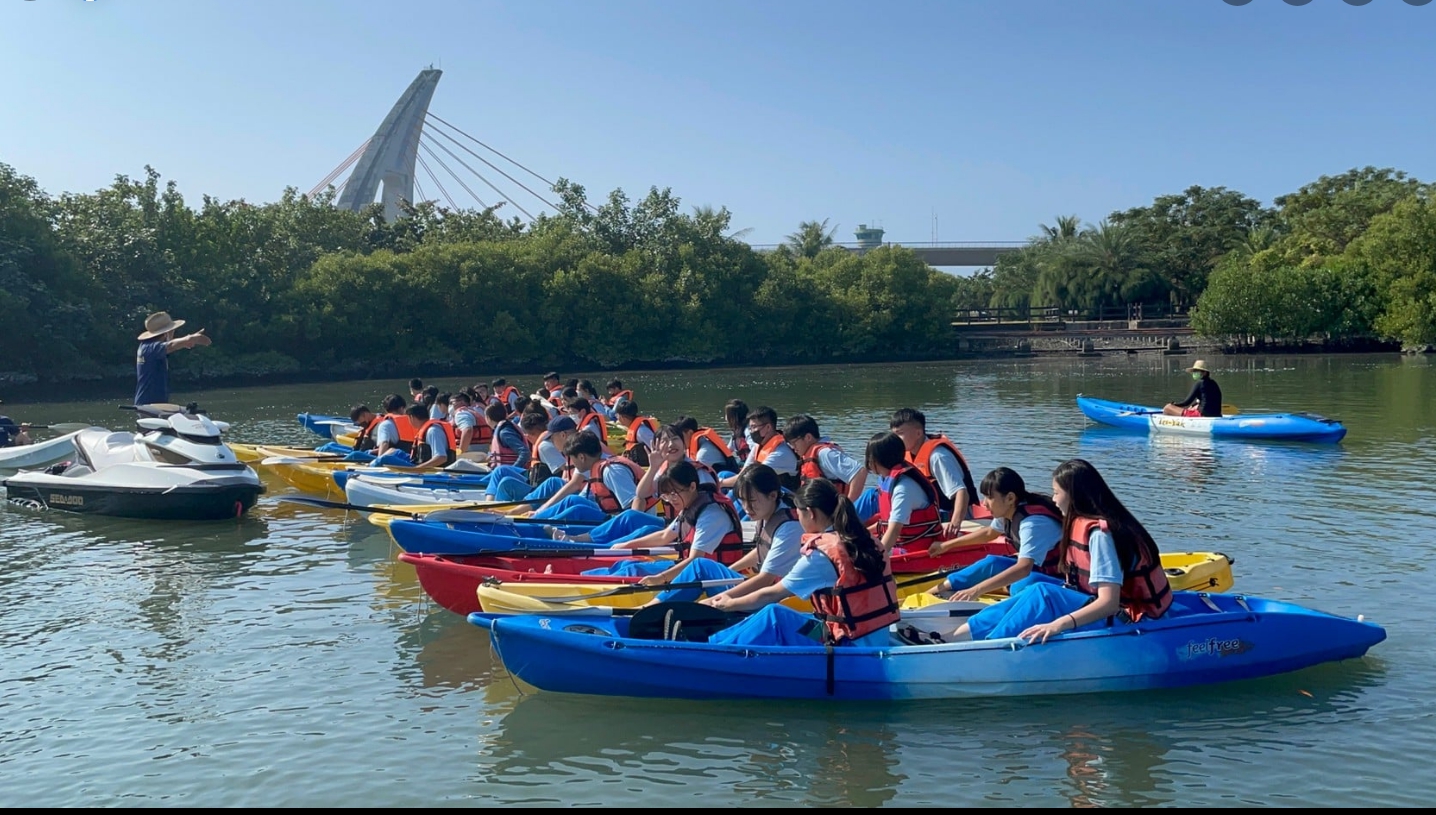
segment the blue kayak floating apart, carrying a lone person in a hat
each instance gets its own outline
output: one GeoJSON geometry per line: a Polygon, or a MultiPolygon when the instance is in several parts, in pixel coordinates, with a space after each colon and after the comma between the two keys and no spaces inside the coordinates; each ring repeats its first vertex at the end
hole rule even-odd
{"type": "Polygon", "coordinates": [[[1232,416],[1165,416],[1160,408],[1123,405],[1077,395],[1077,408],[1093,422],[1143,433],[1179,433],[1215,439],[1335,443],[1346,428],[1314,413],[1238,413],[1232,416]]]}

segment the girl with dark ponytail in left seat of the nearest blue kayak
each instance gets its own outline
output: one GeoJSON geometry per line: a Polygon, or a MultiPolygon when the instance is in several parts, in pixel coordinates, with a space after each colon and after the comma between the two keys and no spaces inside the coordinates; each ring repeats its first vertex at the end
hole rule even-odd
{"type": "Polygon", "coordinates": [[[846,495],[831,481],[814,478],[796,496],[803,525],[803,555],[778,583],[744,597],[714,597],[729,611],[760,608],[709,641],[729,644],[883,647],[896,623],[898,585],[877,541],[863,527],[846,495]],[[780,606],[788,597],[813,603],[813,616],[780,606]]]}

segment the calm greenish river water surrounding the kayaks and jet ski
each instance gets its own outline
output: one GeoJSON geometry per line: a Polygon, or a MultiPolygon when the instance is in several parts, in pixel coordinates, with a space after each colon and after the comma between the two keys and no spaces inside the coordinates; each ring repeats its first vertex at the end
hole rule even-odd
{"type": "MultiPolygon", "coordinates": [[[[1423,805],[1436,796],[1436,360],[1216,357],[1244,410],[1338,418],[1341,445],[1109,432],[1073,397],[1162,403],[1188,357],[625,376],[661,418],[738,396],[862,449],[900,406],[1047,489],[1093,461],[1172,551],[1236,558],[1236,590],[1366,614],[1358,661],[1196,690],[966,703],[681,703],[520,687],[358,515],[243,521],[0,509],[0,804],[1423,805]]],[[[511,377],[531,390],[536,377],[511,377]]],[[[599,380],[595,376],[595,380],[599,380]]],[[[599,380],[602,382],[602,380],[599,380]]],[[[457,380],[439,385],[458,385],[457,380]]],[[[402,382],[180,392],[233,441],[312,443],[402,382]]],[[[113,400],[7,405],[126,429],[113,400]]]]}

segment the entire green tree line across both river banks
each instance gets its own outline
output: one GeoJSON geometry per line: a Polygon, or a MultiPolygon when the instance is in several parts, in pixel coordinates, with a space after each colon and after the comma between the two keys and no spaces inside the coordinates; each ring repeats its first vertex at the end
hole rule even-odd
{"type": "Polygon", "coordinates": [[[1236,346],[1436,343],[1436,202],[1391,169],[1269,208],[1192,187],[1096,225],[1057,218],[971,277],[836,248],[826,220],[755,253],[727,209],[668,189],[554,194],[531,222],[432,202],[386,222],[293,189],[195,208],[149,168],[52,197],[0,164],[0,385],[132,376],[159,308],[217,340],[178,377],[941,356],[971,307],[1166,303],[1236,346]]]}

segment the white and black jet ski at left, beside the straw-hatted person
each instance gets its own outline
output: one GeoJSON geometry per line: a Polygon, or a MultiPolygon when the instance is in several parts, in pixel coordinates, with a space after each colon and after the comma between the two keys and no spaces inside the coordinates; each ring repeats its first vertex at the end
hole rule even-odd
{"type": "Polygon", "coordinates": [[[221,422],[185,409],[146,413],[141,408],[139,433],[80,430],[73,461],[0,485],[19,504],[123,518],[208,521],[254,507],[264,486],[220,441],[221,422]]]}

